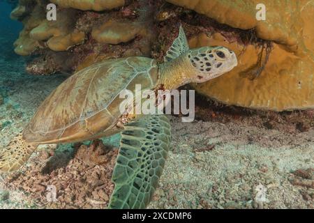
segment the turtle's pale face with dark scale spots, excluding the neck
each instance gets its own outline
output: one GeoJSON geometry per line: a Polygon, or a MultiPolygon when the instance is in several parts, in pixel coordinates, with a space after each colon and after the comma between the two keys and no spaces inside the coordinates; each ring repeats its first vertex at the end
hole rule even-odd
{"type": "Polygon", "coordinates": [[[202,47],[190,49],[190,64],[195,69],[193,82],[202,83],[219,77],[237,66],[237,56],[225,47],[202,47]]]}

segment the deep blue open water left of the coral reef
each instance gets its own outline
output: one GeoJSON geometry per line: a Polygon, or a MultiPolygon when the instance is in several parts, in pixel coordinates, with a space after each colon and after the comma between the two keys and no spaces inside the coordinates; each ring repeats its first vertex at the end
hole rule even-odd
{"type": "MultiPolygon", "coordinates": [[[[29,75],[25,71],[26,62],[31,60],[32,56],[20,56],[14,52],[13,43],[17,40],[20,31],[22,31],[23,24],[10,19],[12,10],[13,4],[0,0],[0,95],[4,97],[5,101],[10,98],[9,95],[19,91],[25,93],[32,91],[33,85],[31,84],[33,82],[38,83],[38,86],[42,87],[52,82],[52,89],[50,89],[52,91],[65,79],[61,75],[38,77],[29,75]]],[[[40,91],[40,89],[36,91],[40,91]]]]}

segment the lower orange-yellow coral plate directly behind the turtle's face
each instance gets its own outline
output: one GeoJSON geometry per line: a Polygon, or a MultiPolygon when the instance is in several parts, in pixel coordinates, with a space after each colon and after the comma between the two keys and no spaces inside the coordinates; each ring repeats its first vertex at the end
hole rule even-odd
{"type": "Polygon", "coordinates": [[[283,111],[314,107],[314,63],[309,57],[299,58],[275,44],[264,71],[252,78],[254,74],[249,68],[257,63],[258,48],[228,43],[220,34],[209,38],[202,33],[190,40],[190,47],[206,45],[229,47],[237,54],[239,65],[223,76],[194,85],[199,93],[227,105],[255,109],[283,111]]]}

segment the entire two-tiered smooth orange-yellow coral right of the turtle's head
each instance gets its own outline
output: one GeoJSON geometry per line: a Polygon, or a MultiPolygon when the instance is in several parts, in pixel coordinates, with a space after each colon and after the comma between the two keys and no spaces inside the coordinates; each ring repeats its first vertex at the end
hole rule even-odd
{"type": "Polygon", "coordinates": [[[221,24],[252,30],[252,38],[274,42],[273,47],[265,47],[264,43],[262,48],[239,44],[228,39],[228,33],[195,36],[190,40],[191,47],[223,45],[236,52],[239,59],[239,66],[227,75],[195,86],[199,93],[227,105],[255,109],[283,111],[314,107],[313,1],[266,1],[266,21],[255,19],[258,0],[167,1],[221,24]]]}

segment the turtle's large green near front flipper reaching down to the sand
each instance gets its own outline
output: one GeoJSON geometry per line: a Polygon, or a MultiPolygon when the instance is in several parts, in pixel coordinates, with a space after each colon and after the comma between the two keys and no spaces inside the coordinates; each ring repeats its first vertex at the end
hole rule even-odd
{"type": "Polygon", "coordinates": [[[147,207],[165,165],[170,128],[164,115],[140,116],[125,125],[108,208],[147,207]]]}

